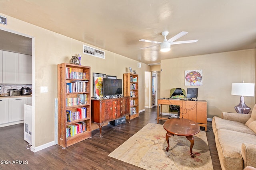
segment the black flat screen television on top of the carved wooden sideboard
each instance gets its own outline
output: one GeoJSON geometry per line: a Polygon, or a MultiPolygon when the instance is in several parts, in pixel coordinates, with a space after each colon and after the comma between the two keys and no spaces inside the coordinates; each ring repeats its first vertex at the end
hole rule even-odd
{"type": "Polygon", "coordinates": [[[122,79],[103,78],[103,96],[122,94],[122,79]]]}

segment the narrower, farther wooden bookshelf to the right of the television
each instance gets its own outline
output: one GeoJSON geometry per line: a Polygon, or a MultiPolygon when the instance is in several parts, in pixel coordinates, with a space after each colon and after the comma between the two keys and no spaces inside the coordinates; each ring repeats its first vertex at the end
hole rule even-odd
{"type": "Polygon", "coordinates": [[[124,74],[124,96],[130,97],[130,119],[139,117],[139,76],[138,74],[124,74]]]}

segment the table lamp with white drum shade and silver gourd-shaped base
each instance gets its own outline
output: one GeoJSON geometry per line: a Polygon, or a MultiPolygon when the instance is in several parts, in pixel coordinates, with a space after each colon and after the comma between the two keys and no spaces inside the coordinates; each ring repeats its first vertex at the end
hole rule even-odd
{"type": "Polygon", "coordinates": [[[251,110],[250,107],[246,106],[244,103],[244,96],[254,96],[254,83],[232,83],[232,95],[241,96],[240,103],[235,106],[237,113],[248,114],[251,110]]]}

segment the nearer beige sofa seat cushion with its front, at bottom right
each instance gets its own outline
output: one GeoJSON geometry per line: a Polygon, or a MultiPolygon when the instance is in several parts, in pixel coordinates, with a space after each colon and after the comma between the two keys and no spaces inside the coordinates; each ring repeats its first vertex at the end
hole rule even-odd
{"type": "Polygon", "coordinates": [[[241,156],[242,143],[256,145],[256,135],[219,129],[215,133],[215,142],[222,169],[243,169],[241,156]]]}

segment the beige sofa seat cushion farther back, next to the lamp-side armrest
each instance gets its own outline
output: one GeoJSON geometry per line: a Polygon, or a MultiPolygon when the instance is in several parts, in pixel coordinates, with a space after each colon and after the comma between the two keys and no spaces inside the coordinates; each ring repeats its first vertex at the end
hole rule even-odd
{"type": "Polygon", "coordinates": [[[237,131],[242,133],[248,133],[251,135],[256,135],[256,133],[254,133],[254,131],[249,129],[244,123],[222,119],[217,116],[214,116],[212,119],[212,129],[214,134],[218,129],[227,129],[231,131],[237,131]]]}

